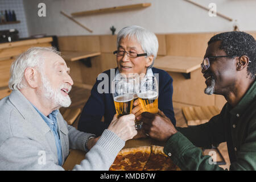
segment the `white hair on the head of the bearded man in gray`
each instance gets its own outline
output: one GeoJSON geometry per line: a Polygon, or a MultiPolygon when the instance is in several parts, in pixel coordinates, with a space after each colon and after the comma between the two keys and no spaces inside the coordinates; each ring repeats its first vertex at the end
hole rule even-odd
{"type": "Polygon", "coordinates": [[[23,52],[11,64],[9,88],[11,90],[19,90],[26,86],[24,82],[24,71],[26,68],[38,68],[38,71],[43,71],[44,52],[53,52],[60,55],[54,47],[31,47],[26,52],[23,52]]]}

